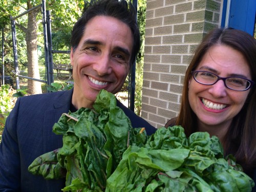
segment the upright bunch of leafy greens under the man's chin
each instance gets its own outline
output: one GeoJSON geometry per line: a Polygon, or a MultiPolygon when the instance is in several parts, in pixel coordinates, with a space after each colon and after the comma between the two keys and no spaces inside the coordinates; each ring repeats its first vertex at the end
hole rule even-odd
{"type": "Polygon", "coordinates": [[[36,158],[29,172],[45,179],[66,177],[64,191],[105,189],[124,151],[132,143],[142,146],[146,134],[132,128],[113,94],[101,90],[93,107],[60,117],[53,132],[63,135],[63,146],[36,158]]]}

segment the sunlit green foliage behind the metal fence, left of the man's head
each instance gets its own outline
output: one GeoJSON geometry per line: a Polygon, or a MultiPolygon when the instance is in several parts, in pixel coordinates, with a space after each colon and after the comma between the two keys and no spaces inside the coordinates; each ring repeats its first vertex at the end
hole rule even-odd
{"type": "MultiPolygon", "coordinates": [[[[13,65],[13,50],[12,50],[12,33],[10,16],[14,17],[27,11],[27,3],[32,6],[41,4],[39,0],[27,1],[27,0],[13,0],[0,1],[0,28],[4,28],[5,37],[5,74],[8,74],[15,78],[13,65]]],[[[70,48],[70,32],[77,18],[81,15],[83,8],[83,0],[61,0],[46,1],[46,9],[51,11],[51,28],[53,34],[53,48],[55,50],[69,50],[70,48]],[[55,35],[56,34],[56,35],[55,35]]],[[[37,14],[37,21],[40,21],[42,15],[37,14]]],[[[19,70],[25,70],[27,68],[27,46],[26,46],[26,33],[28,16],[23,15],[16,19],[16,34],[17,34],[17,52],[18,52],[18,68],[19,70]]],[[[37,36],[37,48],[38,48],[38,63],[45,63],[44,54],[44,35],[42,35],[42,25],[38,22],[38,36],[37,36]]],[[[2,33],[1,33],[2,34],[2,33]]],[[[55,54],[54,62],[69,63],[69,57],[64,54],[55,54]]],[[[0,73],[3,71],[2,65],[0,65],[0,73]]]]}

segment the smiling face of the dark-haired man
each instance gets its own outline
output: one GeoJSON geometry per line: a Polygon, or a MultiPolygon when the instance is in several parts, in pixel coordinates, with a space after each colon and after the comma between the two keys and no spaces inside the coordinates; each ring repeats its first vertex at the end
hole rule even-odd
{"type": "Polygon", "coordinates": [[[91,108],[101,89],[113,94],[120,91],[130,70],[133,48],[132,31],[120,20],[95,16],[73,52],[74,93],[72,103],[77,109],[91,108]]]}

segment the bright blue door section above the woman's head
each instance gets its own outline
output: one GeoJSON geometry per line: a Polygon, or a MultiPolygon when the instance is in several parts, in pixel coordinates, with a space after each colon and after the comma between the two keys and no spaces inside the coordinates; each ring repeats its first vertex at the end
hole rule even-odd
{"type": "Polygon", "coordinates": [[[240,29],[253,36],[255,12],[255,0],[224,0],[221,26],[240,29]],[[226,19],[226,15],[228,15],[228,20],[226,19]],[[226,23],[227,21],[228,24],[226,23]]]}

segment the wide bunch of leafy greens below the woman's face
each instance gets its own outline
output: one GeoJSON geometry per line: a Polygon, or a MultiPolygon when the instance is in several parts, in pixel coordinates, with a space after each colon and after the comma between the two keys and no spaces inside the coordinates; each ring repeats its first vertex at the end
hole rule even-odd
{"type": "Polygon", "coordinates": [[[105,191],[251,191],[253,180],[217,137],[181,126],[159,128],[143,147],[130,146],[105,191]]]}

